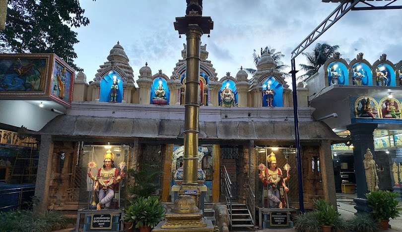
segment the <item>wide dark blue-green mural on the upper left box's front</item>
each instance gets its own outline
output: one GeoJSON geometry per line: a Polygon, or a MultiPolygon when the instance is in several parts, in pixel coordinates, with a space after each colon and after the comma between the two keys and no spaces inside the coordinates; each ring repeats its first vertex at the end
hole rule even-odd
{"type": "Polygon", "coordinates": [[[45,93],[46,58],[0,58],[0,92],[45,93]]]}

